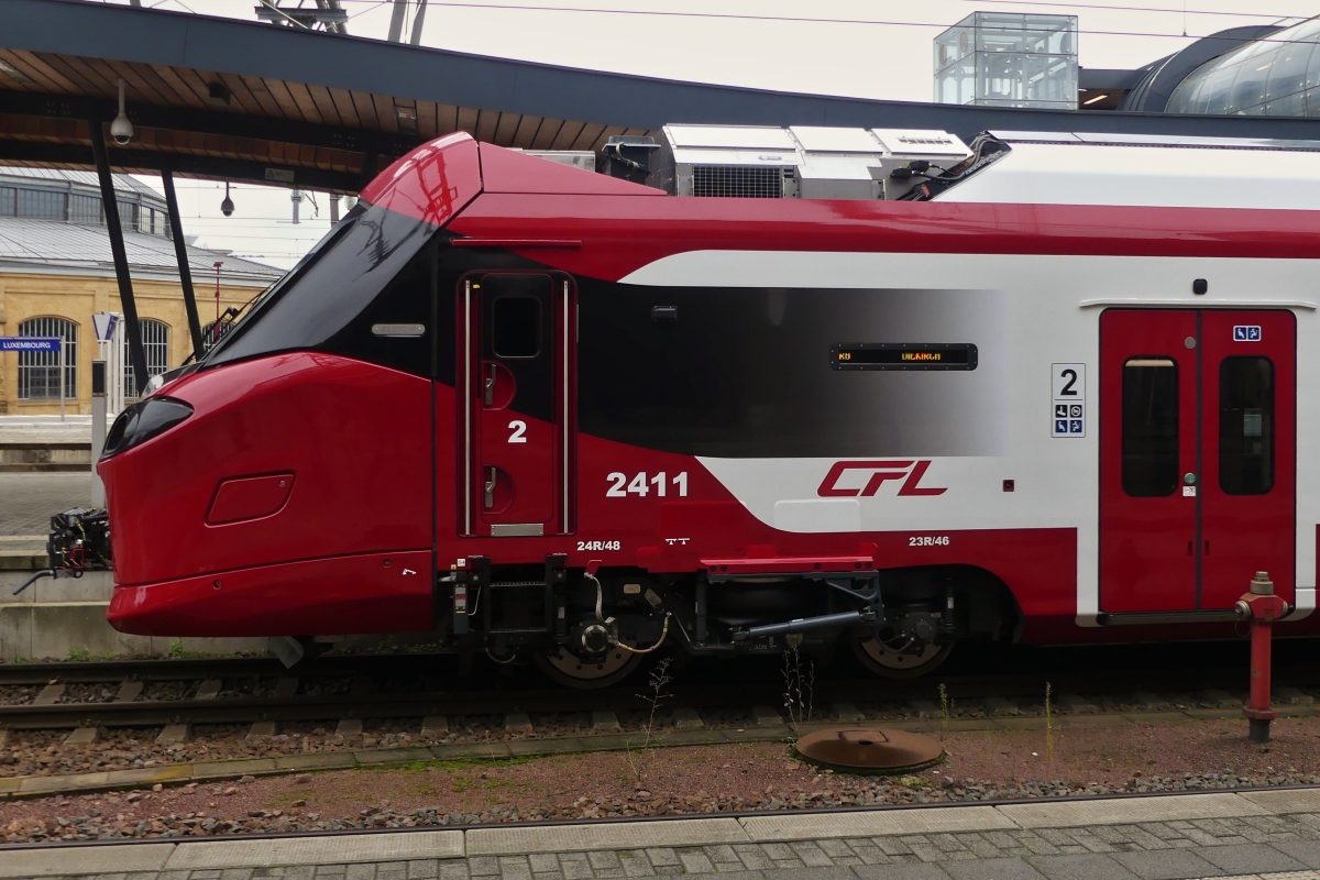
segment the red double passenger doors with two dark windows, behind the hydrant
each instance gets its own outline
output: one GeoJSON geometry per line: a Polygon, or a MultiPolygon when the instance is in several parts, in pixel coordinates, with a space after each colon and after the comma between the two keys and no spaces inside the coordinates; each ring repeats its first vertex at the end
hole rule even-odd
{"type": "Polygon", "coordinates": [[[1105,612],[1233,607],[1294,584],[1296,330],[1287,311],[1101,315],[1105,612]]]}

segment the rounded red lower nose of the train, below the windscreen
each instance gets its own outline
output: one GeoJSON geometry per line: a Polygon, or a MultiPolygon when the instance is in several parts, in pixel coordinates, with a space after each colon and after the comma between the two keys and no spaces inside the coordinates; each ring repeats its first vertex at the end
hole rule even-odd
{"type": "Polygon", "coordinates": [[[112,625],[153,636],[430,625],[428,380],[292,352],[164,392],[172,402],[125,418],[127,439],[99,464],[112,625]]]}

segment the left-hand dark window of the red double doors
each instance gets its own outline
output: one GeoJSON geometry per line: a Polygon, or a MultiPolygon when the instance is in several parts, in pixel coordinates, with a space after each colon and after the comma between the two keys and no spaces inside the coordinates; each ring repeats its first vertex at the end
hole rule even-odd
{"type": "Polygon", "coordinates": [[[1123,491],[1158,497],[1177,489],[1177,364],[1133,358],[1123,364],[1123,491]]]}

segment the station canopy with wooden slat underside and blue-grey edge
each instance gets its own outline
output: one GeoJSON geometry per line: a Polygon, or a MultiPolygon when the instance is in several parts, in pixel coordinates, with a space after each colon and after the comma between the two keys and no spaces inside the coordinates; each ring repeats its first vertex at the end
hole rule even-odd
{"type": "Polygon", "coordinates": [[[454,131],[599,150],[667,123],[1093,131],[1320,140],[1320,120],[1016,110],[710,86],[491,58],[181,12],[5,0],[0,164],[92,168],[91,125],[125,172],[359,191],[454,131]],[[123,79],[135,135],[108,137],[123,79]]]}

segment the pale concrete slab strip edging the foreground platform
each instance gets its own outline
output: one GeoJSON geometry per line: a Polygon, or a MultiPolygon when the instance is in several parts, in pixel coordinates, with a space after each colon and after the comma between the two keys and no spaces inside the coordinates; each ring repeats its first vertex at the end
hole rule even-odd
{"type": "Polygon", "coordinates": [[[708,815],[673,819],[562,825],[503,825],[467,830],[425,829],[286,838],[144,840],[74,846],[0,847],[0,877],[70,876],[129,871],[246,868],[407,859],[591,852],[643,847],[698,847],[791,842],[824,838],[867,838],[945,834],[968,830],[1039,830],[1137,822],[1183,821],[1185,817],[1262,817],[1313,813],[1320,786],[1253,792],[1164,794],[1036,803],[920,806],[891,810],[845,810],[771,815],[708,815]],[[1041,814],[1053,809],[1057,821],[1041,814]],[[1137,807],[1139,815],[1134,815],[1137,807]],[[1018,818],[1014,818],[1016,814],[1018,818]],[[110,867],[114,865],[114,867],[110,867]]]}

